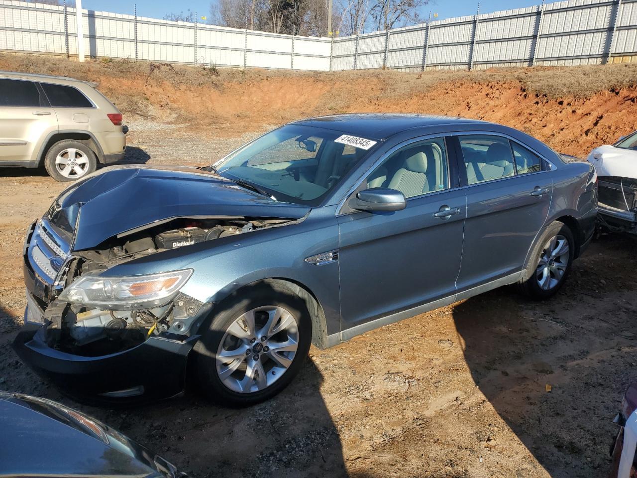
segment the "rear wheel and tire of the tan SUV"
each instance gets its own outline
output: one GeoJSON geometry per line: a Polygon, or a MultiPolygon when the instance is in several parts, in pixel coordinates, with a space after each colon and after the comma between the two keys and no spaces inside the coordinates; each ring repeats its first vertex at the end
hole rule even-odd
{"type": "Polygon", "coordinates": [[[75,181],[96,170],[97,158],[84,143],[62,140],[49,148],[44,167],[56,181],[75,181]]]}

